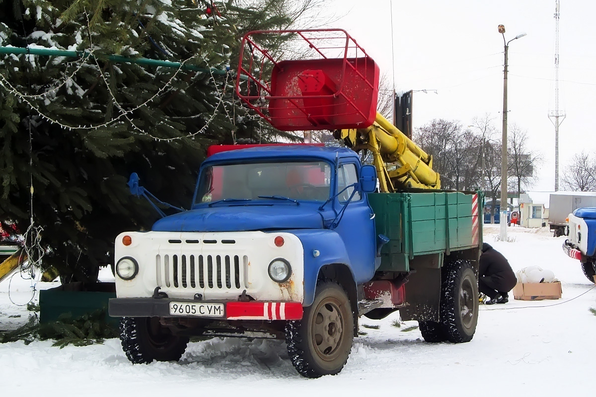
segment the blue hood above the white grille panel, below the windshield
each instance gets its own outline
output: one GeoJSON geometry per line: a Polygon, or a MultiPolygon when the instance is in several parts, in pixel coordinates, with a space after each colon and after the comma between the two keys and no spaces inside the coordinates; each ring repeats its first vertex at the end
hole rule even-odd
{"type": "Polygon", "coordinates": [[[243,230],[322,229],[315,205],[216,205],[160,219],[156,232],[238,232],[243,230]]]}

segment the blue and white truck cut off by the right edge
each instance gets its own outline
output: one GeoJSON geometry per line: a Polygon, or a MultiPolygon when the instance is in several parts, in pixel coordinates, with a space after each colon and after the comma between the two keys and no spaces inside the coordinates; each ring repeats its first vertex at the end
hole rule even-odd
{"type": "Polygon", "coordinates": [[[578,208],[569,214],[564,233],[569,239],[563,243],[563,251],[579,260],[583,274],[596,283],[596,207],[578,208]]]}

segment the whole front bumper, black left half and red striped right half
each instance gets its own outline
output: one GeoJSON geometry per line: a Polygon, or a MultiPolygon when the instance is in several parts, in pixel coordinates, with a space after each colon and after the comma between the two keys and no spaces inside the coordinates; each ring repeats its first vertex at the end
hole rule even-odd
{"type": "Polygon", "coordinates": [[[108,304],[110,317],[188,317],[210,318],[211,320],[302,320],[300,302],[237,302],[196,301],[178,298],[113,298],[108,304]],[[170,314],[170,302],[181,304],[223,304],[222,315],[170,314]]]}

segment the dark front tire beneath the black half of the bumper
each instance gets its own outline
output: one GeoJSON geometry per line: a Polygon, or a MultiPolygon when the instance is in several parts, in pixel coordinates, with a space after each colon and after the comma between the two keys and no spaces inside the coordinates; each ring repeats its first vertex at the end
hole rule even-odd
{"type": "Polygon", "coordinates": [[[178,361],[188,345],[188,337],[173,335],[159,323],[159,317],[122,317],[120,342],[133,364],[178,361]]]}

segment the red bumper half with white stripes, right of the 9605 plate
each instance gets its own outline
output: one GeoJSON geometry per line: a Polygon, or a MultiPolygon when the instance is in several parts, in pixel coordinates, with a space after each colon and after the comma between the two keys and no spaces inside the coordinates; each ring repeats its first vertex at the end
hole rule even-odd
{"type": "Polygon", "coordinates": [[[300,302],[227,302],[228,320],[302,320],[300,302]]]}

